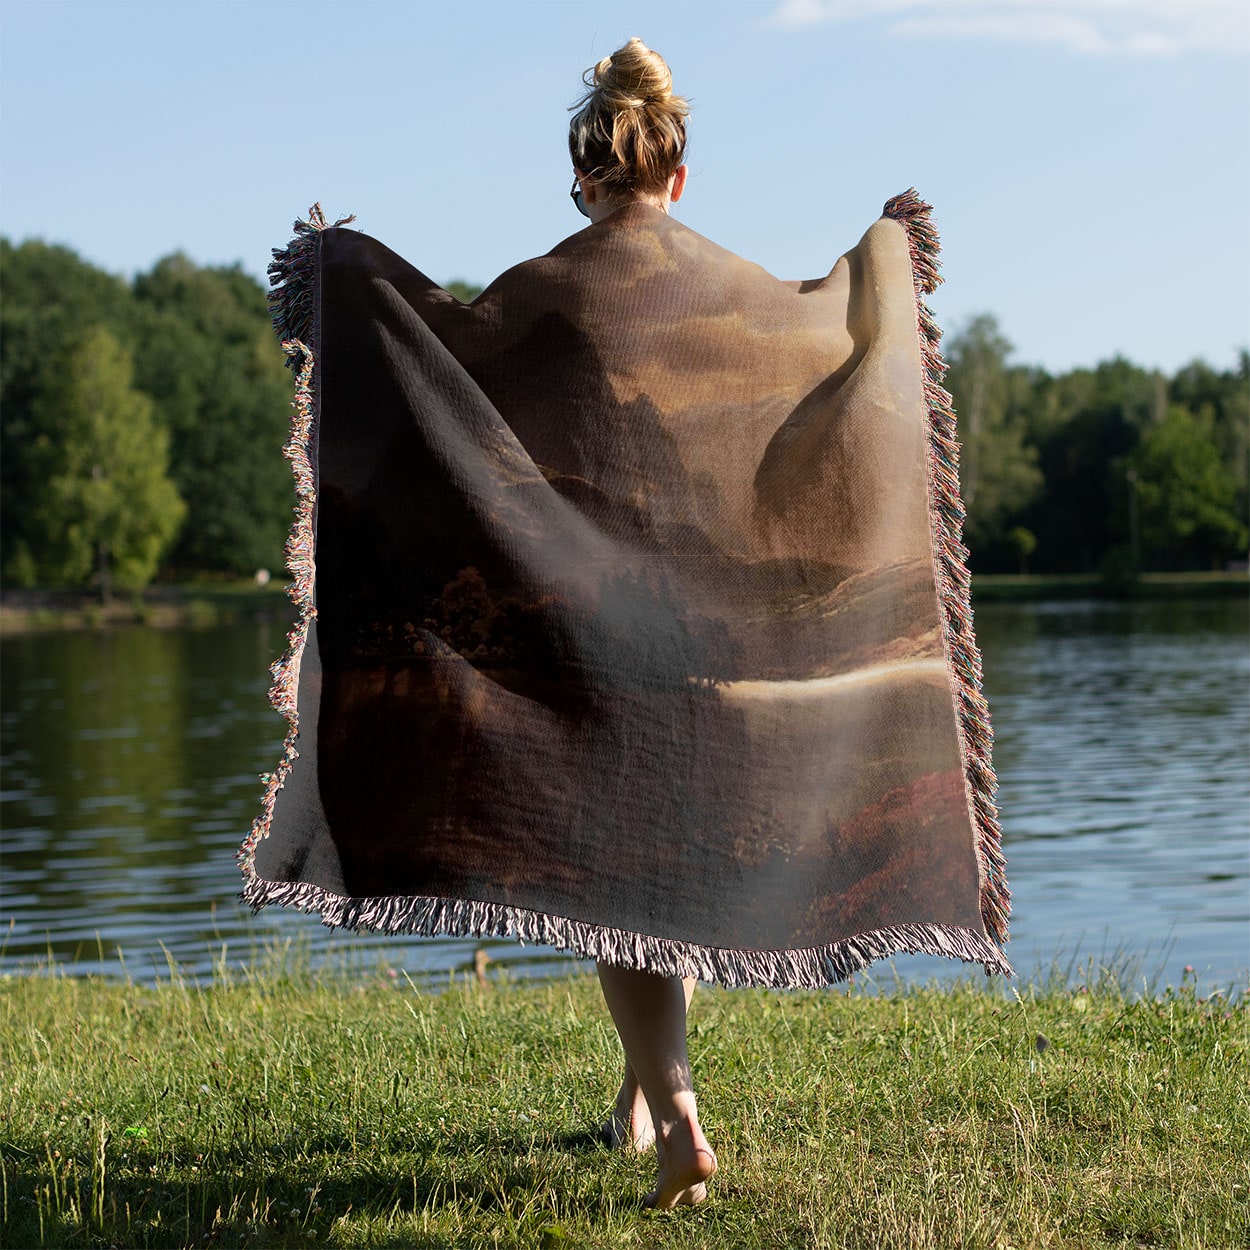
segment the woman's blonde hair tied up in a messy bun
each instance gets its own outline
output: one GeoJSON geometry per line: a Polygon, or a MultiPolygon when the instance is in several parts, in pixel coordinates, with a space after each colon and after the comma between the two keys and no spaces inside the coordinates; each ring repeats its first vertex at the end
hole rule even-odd
{"type": "Polygon", "coordinates": [[[572,164],[609,195],[662,191],[685,155],[690,115],[664,58],[631,39],[581,80],[586,94],[569,122],[572,164]]]}

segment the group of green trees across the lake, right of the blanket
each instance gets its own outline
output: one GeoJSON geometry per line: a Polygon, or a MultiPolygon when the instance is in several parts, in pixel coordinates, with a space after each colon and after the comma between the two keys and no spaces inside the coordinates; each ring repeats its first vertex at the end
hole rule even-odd
{"type": "Polygon", "coordinates": [[[945,344],[974,571],[1219,569],[1244,560],[1250,354],[1171,378],[1128,360],[1051,375],[980,316],[945,344]]]}

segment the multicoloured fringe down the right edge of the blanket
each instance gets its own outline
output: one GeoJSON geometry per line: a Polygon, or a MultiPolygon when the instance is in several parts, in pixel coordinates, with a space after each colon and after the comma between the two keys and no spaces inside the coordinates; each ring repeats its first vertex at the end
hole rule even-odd
{"type": "Polygon", "coordinates": [[[942,645],[948,670],[955,680],[964,779],[969,808],[976,822],[981,919],[986,931],[1001,944],[1008,940],[1011,894],[1006,882],[1002,830],[994,802],[998,789],[991,764],[994,731],[981,694],[981,652],[972,634],[968,548],[961,541],[965,514],[959,494],[959,439],[951,396],[941,385],[946,372],[941,358],[941,330],[924,301],[924,296],[931,295],[942,281],[938,272],[941,245],[931,220],[932,206],[920,199],[915,188],[888,200],[881,211],[906,230],[911,255],[916,326],[929,409],[929,518],[942,614],[942,645]]]}

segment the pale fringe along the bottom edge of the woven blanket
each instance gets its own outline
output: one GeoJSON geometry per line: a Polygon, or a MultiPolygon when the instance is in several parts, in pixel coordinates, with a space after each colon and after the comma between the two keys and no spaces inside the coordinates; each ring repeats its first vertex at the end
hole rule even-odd
{"type": "Polygon", "coordinates": [[[804,950],[731,950],[652,938],[626,929],[586,924],[525,908],[465,899],[349,899],[306,881],[262,881],[251,876],[244,901],[254,909],[282,904],[316,911],[334,929],[371,929],[432,938],[515,938],[662,976],[695,976],[730,988],[820,989],[845,981],[890,955],[941,955],[981,964],[986,975],[1011,975],[1011,965],[988,939],[955,925],[892,925],[804,950]]]}

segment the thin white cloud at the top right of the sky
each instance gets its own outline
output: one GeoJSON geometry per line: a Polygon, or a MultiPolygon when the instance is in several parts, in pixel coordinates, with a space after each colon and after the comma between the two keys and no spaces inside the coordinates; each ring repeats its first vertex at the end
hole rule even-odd
{"type": "Polygon", "coordinates": [[[1250,52],[1246,0],[781,0],[770,25],[882,22],[910,39],[1051,44],[1088,56],[1250,52]]]}

